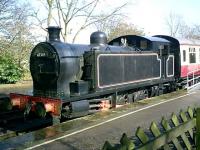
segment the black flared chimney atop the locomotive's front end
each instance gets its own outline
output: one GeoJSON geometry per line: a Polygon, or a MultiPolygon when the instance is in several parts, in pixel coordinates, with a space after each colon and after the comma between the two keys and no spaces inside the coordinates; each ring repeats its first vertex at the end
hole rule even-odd
{"type": "Polygon", "coordinates": [[[60,31],[61,28],[58,26],[49,26],[47,28],[48,33],[49,33],[49,41],[60,41],[60,31]]]}

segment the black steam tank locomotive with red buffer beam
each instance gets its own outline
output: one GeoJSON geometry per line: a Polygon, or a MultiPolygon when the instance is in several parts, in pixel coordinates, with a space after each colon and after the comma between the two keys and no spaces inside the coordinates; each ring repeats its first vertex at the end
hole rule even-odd
{"type": "Polygon", "coordinates": [[[127,35],[107,43],[98,31],[90,45],[78,45],[61,42],[60,30],[49,27],[49,41],[32,50],[33,96],[10,95],[14,104],[20,101],[19,108],[79,117],[175,90],[180,77],[176,39],[127,35]]]}

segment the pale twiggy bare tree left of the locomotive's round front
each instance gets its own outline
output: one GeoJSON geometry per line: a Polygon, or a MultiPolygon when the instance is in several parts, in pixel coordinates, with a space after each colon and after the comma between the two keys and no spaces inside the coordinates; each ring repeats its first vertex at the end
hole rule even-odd
{"type": "Polygon", "coordinates": [[[30,32],[32,24],[29,20],[31,8],[29,4],[12,3],[12,5],[8,12],[2,14],[7,19],[5,22],[1,22],[0,52],[12,55],[16,63],[23,67],[28,64],[34,39],[30,32]]]}

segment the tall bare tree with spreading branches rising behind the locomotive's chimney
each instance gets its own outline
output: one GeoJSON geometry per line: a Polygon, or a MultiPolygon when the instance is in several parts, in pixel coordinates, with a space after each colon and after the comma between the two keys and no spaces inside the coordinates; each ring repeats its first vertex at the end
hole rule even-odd
{"type": "Polygon", "coordinates": [[[61,36],[65,42],[69,41],[69,34],[74,43],[77,36],[87,27],[97,22],[104,22],[113,17],[120,16],[121,10],[127,5],[127,2],[115,7],[106,9],[107,12],[99,10],[103,0],[39,0],[43,3],[48,16],[46,19],[39,18],[38,12],[35,13],[42,29],[50,24],[50,20],[54,21],[62,28],[61,36]],[[52,16],[52,17],[51,17],[52,16]]]}

